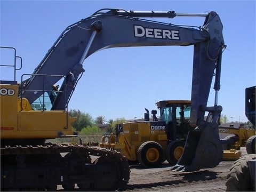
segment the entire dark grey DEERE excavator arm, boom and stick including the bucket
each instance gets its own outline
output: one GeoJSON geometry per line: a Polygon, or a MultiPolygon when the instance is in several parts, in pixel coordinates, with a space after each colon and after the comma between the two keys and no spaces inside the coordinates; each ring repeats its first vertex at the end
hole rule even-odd
{"type": "MultiPolygon", "coordinates": [[[[195,14],[102,9],[68,26],[33,74],[66,76],[51,109],[65,110],[77,81],[84,72],[83,61],[94,52],[110,47],[193,45],[190,133],[177,166],[184,171],[214,167],[219,164],[222,156],[218,135],[218,118],[222,110],[218,106],[221,55],[222,49],[226,47],[222,28],[219,15],[213,11],[195,14]],[[155,17],[205,17],[205,21],[202,27],[184,27],[142,19],[155,17]],[[215,101],[214,106],[208,107],[207,100],[214,76],[215,101]],[[65,87],[66,91],[63,92],[65,87]],[[209,112],[209,121],[204,121],[206,111],[209,112]]],[[[33,103],[43,93],[23,90],[49,90],[60,79],[52,77],[48,80],[44,87],[38,87],[42,79],[31,76],[20,87],[20,97],[33,103]]]]}

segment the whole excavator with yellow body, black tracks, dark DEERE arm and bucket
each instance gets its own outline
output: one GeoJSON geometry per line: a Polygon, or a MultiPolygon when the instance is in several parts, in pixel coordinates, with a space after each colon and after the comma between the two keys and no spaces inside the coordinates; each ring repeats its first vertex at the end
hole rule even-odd
{"type": "Polygon", "coordinates": [[[65,190],[73,190],[75,185],[89,191],[125,188],[130,167],[117,151],[48,142],[76,137],[68,103],[85,71],[83,62],[91,54],[112,47],[194,46],[190,128],[175,170],[190,172],[217,166],[222,157],[218,134],[221,57],[226,47],[222,29],[214,11],[101,9],[68,26],[34,72],[23,74],[20,82],[15,78],[19,67],[13,65],[14,79],[1,81],[0,91],[1,190],[51,191],[59,185],[65,190]],[[184,26],[147,19],[175,17],[203,17],[204,23],[184,26]],[[213,78],[214,105],[207,106],[213,78]],[[98,158],[92,161],[94,156],[98,158]]]}

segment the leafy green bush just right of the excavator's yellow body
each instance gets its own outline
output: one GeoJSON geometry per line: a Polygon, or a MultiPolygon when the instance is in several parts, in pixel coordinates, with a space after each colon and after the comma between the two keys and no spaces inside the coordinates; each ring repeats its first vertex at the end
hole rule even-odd
{"type": "Polygon", "coordinates": [[[83,113],[79,109],[70,109],[69,115],[71,117],[76,117],[76,121],[71,125],[76,131],[81,131],[84,127],[93,125],[93,118],[89,113],[83,113]]]}

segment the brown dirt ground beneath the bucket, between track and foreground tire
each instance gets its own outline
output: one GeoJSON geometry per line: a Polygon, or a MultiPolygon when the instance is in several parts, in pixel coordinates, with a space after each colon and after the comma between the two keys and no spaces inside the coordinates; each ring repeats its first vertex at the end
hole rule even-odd
{"type": "MultiPolygon", "coordinates": [[[[241,150],[242,156],[247,154],[245,148],[241,150]]],[[[171,171],[167,162],[154,169],[131,165],[130,180],[124,191],[226,191],[227,174],[233,164],[233,161],[222,161],[214,168],[196,172],[171,171]]],[[[61,188],[58,186],[58,190],[61,188]]]]}

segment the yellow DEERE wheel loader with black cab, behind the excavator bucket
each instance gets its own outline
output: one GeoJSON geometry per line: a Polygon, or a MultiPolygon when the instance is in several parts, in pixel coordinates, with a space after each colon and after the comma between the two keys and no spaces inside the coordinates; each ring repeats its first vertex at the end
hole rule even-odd
{"type": "Polygon", "coordinates": [[[100,147],[115,149],[129,160],[142,166],[154,167],[167,160],[175,165],[183,153],[188,135],[190,105],[187,100],[167,100],[156,103],[160,112],[146,109],[145,118],[117,124],[115,135],[102,138],[100,147]],[[113,139],[117,137],[116,139],[113,139]]]}

